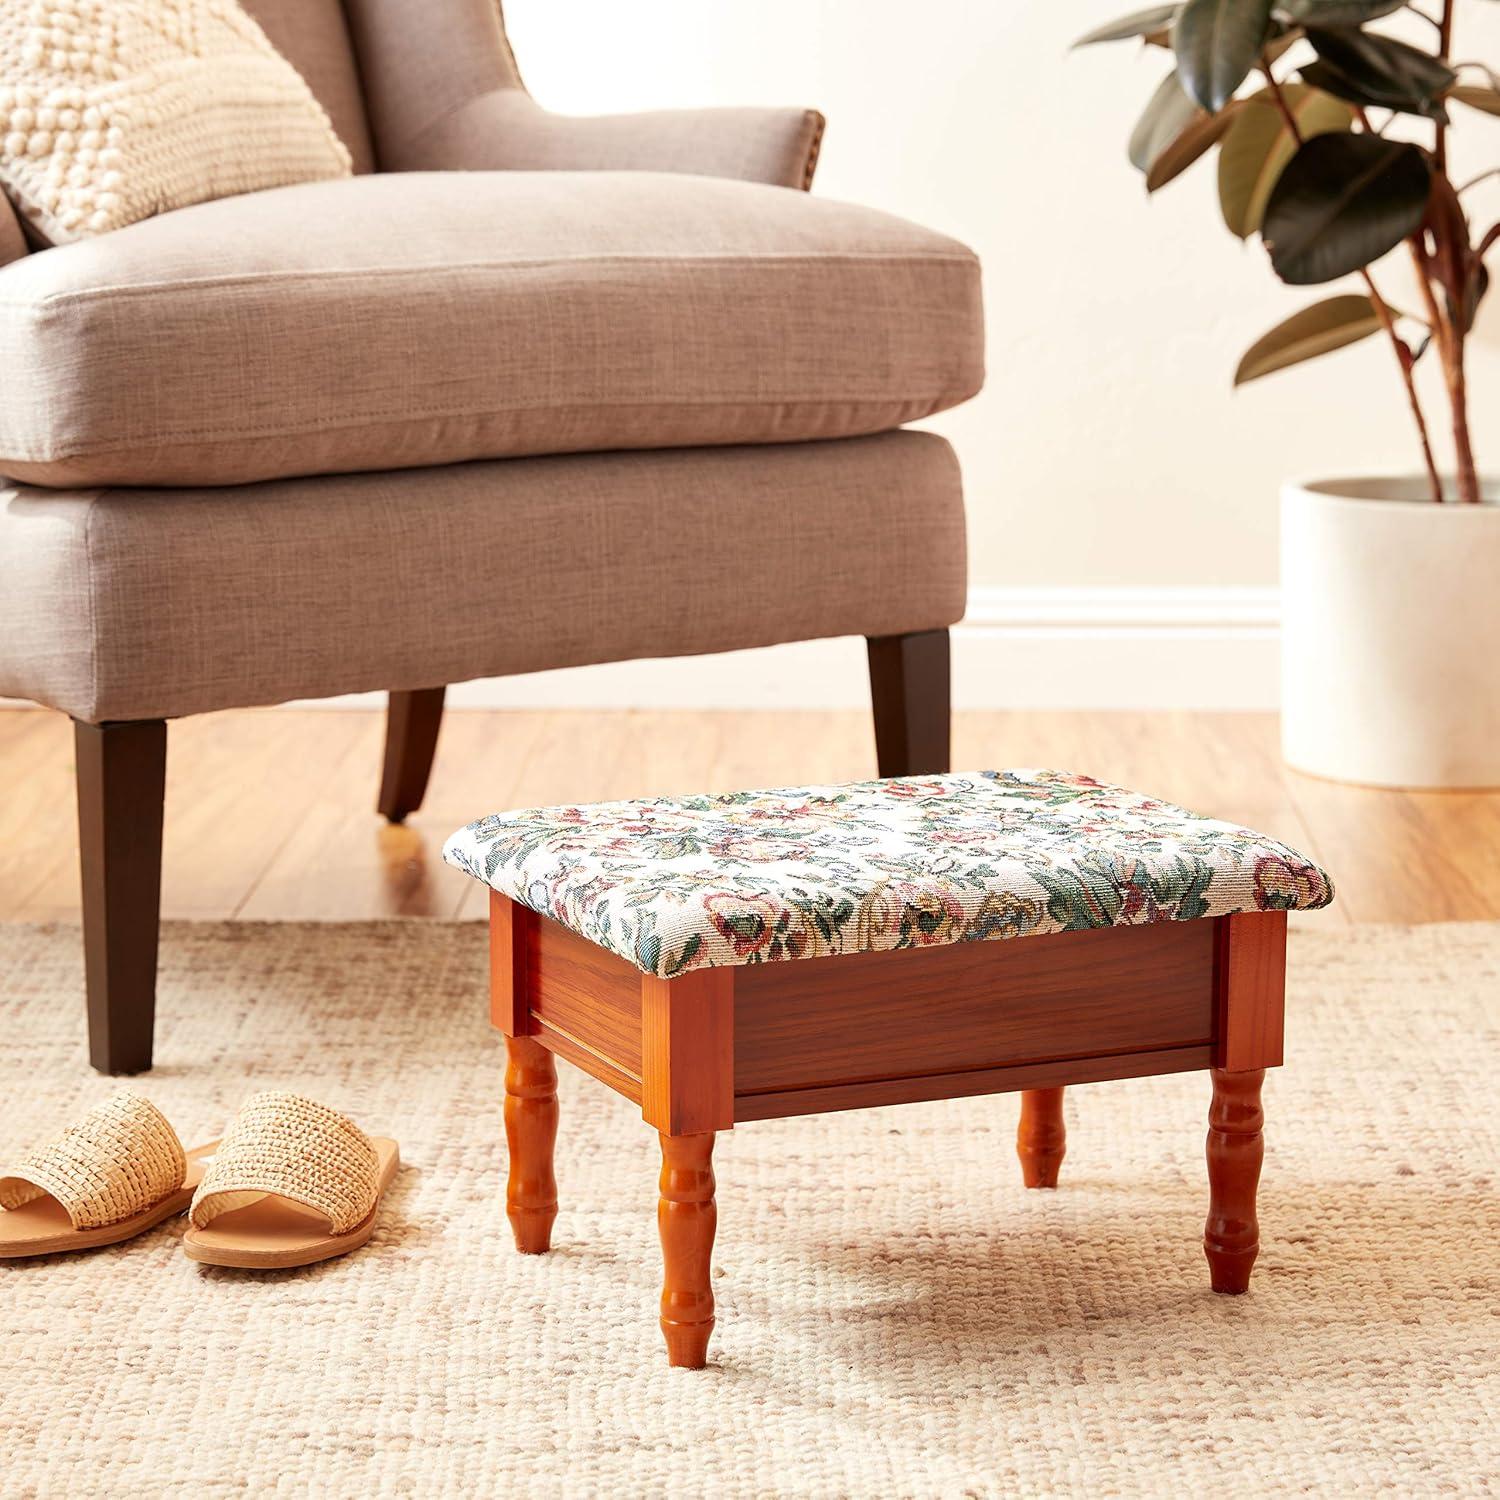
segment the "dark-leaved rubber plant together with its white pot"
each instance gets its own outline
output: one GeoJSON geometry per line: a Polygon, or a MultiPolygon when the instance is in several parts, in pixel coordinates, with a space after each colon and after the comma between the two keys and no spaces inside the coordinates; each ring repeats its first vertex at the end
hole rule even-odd
{"type": "Polygon", "coordinates": [[[1148,190],[1216,152],[1232,232],[1257,234],[1288,285],[1350,279],[1258,339],[1236,384],[1360,339],[1394,357],[1420,472],[1292,483],[1281,502],[1284,753],[1380,786],[1500,784],[1500,492],[1476,466],[1464,372],[1500,224],[1470,224],[1473,183],[1452,180],[1448,153],[1454,114],[1500,114],[1500,80],[1452,60],[1454,10],[1186,0],[1078,44],[1142,39],[1173,56],[1130,141],[1148,190]],[[1377,285],[1388,256],[1414,280],[1410,306],[1377,285]],[[1442,372],[1449,472],[1424,360],[1442,372]]]}

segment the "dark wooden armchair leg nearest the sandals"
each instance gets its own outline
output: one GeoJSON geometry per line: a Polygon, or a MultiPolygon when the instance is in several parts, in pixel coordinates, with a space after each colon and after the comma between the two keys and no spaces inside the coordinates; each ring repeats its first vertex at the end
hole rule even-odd
{"type": "Polygon", "coordinates": [[[166,723],[74,723],[88,1060],[146,1072],[156,1020],[166,723]]]}

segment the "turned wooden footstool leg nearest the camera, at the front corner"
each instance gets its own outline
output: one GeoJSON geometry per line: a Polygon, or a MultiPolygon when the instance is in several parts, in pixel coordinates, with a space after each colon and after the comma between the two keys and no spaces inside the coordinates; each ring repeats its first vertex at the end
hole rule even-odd
{"type": "Polygon", "coordinates": [[[662,1334],[668,1362],[684,1370],[708,1364],[714,1332],[714,1288],[710,1263],[714,1254],[714,1132],[662,1136],[662,1200],[657,1230],[662,1234],[662,1334]]]}

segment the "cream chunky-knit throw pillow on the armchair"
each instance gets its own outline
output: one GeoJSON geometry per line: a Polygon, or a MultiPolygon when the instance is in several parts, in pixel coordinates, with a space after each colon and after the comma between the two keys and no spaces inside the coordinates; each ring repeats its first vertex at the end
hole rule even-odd
{"type": "Polygon", "coordinates": [[[0,0],[0,186],[54,244],[348,174],[236,0],[0,0]]]}

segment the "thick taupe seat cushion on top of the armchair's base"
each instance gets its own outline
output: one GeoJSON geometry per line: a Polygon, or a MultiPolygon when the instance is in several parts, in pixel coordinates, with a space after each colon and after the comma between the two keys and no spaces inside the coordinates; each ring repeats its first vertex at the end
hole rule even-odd
{"type": "Polygon", "coordinates": [[[654,172],[404,172],[0,272],[0,472],[238,484],[880,432],[982,380],[962,244],[654,172]]]}

